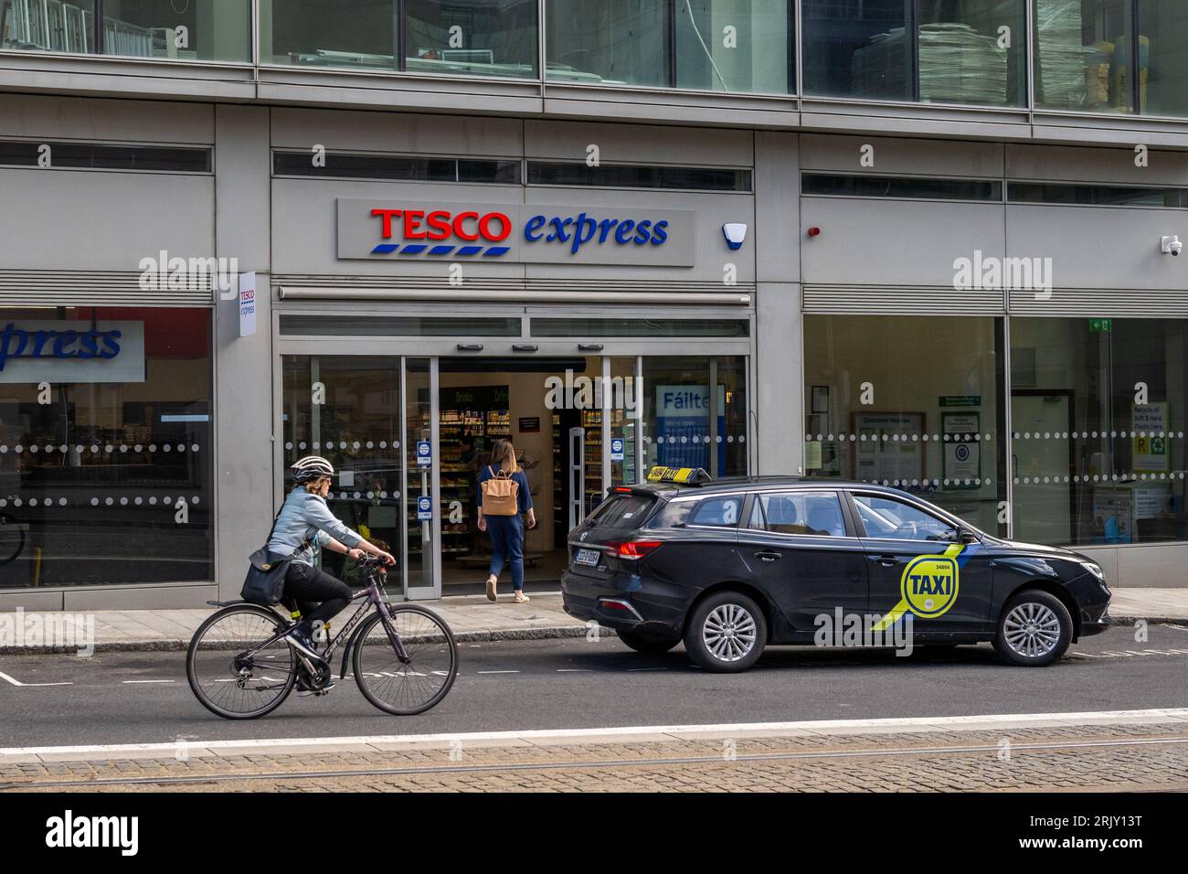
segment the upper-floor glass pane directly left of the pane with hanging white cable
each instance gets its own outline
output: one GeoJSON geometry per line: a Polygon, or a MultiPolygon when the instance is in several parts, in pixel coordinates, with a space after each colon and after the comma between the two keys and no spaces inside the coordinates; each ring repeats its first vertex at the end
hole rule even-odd
{"type": "Polygon", "coordinates": [[[669,0],[548,0],[544,20],[550,81],[669,83],[669,0]]]}

